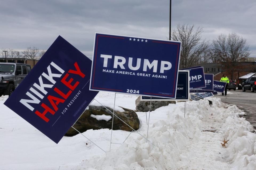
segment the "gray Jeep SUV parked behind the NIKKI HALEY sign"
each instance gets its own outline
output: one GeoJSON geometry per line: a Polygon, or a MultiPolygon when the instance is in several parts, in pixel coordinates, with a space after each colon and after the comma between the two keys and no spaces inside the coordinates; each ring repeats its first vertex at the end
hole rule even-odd
{"type": "Polygon", "coordinates": [[[10,96],[30,70],[29,64],[0,63],[0,95],[10,96]]]}

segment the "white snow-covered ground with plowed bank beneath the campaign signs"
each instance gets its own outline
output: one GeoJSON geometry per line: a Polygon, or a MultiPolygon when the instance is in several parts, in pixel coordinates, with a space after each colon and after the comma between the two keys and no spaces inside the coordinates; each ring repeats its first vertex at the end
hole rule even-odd
{"type": "MultiPolygon", "coordinates": [[[[122,106],[135,110],[137,96],[116,95],[115,109],[122,106]]],[[[112,144],[111,130],[88,130],[63,137],[57,144],[3,105],[0,97],[0,169],[209,169],[255,170],[256,134],[253,126],[239,118],[235,105],[221,103],[219,98],[169,104],[150,113],[149,141],[136,132],[122,145],[112,144]],[[209,105],[209,100],[213,105],[209,105]],[[222,147],[223,139],[229,140],[222,147]],[[87,143],[87,145],[86,145],[87,143]]],[[[114,94],[96,96],[103,105],[113,108],[114,94]]],[[[92,105],[99,105],[93,101],[92,105]]],[[[146,113],[137,112],[139,133],[147,135],[146,113]]],[[[149,117],[149,113],[147,113],[149,117]]],[[[107,117],[101,117],[108,120],[107,117]]],[[[101,119],[100,118],[100,119],[101,119]]],[[[147,118],[148,120],[149,118],[147,118]]],[[[122,143],[130,132],[115,130],[112,142],[122,143]]]]}

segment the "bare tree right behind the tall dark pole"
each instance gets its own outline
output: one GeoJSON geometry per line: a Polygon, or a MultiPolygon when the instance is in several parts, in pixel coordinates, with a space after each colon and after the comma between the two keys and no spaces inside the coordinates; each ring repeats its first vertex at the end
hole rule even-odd
{"type": "MultiPolygon", "coordinates": [[[[201,63],[205,52],[209,48],[209,41],[202,40],[203,29],[194,25],[177,25],[172,30],[171,37],[174,41],[181,41],[180,68],[186,68],[201,63]]],[[[206,61],[206,60],[204,60],[206,61]]]]}

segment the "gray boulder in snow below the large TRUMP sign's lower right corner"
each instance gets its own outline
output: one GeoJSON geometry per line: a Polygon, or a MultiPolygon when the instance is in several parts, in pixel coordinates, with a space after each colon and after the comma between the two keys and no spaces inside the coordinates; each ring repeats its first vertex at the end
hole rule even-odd
{"type": "MultiPolygon", "coordinates": [[[[167,106],[168,104],[176,104],[176,101],[151,101],[151,109],[150,111],[154,111],[155,109],[167,106]]],[[[135,100],[136,110],[140,112],[149,112],[150,101],[141,101],[141,96],[139,96],[135,100]]]]}

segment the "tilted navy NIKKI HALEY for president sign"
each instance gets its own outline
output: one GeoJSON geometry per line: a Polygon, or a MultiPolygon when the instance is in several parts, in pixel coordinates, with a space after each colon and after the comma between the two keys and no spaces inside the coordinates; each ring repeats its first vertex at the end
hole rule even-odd
{"type": "Polygon", "coordinates": [[[97,95],[91,60],[59,36],[5,105],[58,143],[97,95]]]}

